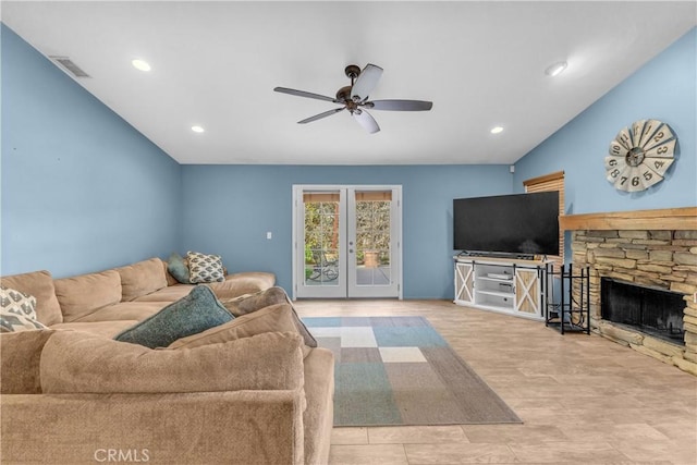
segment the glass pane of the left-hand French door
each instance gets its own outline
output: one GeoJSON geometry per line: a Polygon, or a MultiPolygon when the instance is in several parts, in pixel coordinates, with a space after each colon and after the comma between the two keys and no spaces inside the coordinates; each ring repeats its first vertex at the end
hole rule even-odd
{"type": "Polygon", "coordinates": [[[305,285],[339,285],[339,192],[305,192],[305,285]]]}

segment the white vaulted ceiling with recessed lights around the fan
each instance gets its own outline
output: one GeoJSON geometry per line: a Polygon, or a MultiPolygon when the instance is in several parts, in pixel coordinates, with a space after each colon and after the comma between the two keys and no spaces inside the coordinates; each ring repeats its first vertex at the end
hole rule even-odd
{"type": "Polygon", "coordinates": [[[2,1],[1,15],[181,163],[509,164],[694,27],[696,4],[2,1]],[[347,112],[296,124],[338,106],[272,91],[333,97],[352,63],[384,69],[371,99],[433,109],[371,111],[368,134],[347,112]]]}

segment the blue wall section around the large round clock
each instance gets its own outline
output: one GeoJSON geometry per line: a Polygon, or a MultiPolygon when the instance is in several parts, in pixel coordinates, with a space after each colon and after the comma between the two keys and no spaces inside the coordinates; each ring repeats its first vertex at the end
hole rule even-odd
{"type": "Polygon", "coordinates": [[[515,164],[514,189],[541,174],[565,172],[567,213],[697,205],[697,28],[610,90],[515,164]],[[657,119],[677,135],[677,160],[665,179],[641,193],[606,180],[610,142],[633,122],[657,119]]]}

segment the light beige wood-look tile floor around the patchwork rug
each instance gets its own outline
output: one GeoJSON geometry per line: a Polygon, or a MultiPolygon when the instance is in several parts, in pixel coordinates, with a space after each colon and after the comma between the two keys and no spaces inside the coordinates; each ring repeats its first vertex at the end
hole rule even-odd
{"type": "Polygon", "coordinates": [[[301,316],[425,316],[523,425],[334,428],[330,464],[697,465],[697,377],[591,334],[448,301],[297,301],[301,316]]]}

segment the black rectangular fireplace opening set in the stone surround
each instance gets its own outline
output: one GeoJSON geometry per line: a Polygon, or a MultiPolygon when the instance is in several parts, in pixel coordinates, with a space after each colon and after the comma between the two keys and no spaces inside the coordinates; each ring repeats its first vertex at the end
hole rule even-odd
{"type": "Polygon", "coordinates": [[[600,309],[606,320],[685,345],[683,294],[602,278],[600,309]]]}

